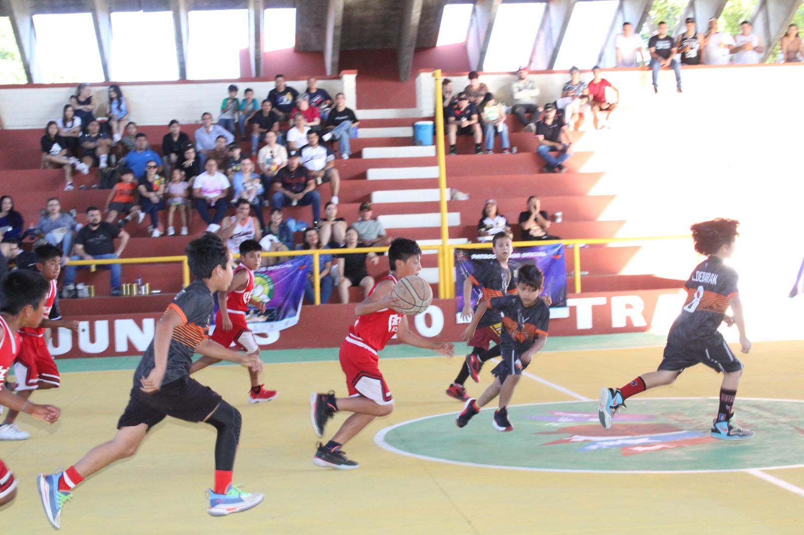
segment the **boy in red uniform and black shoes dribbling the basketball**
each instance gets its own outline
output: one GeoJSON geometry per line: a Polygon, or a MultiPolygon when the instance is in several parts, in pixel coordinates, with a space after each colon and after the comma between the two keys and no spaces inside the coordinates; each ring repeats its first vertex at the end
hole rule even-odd
{"type": "Polygon", "coordinates": [[[338,410],[347,410],[354,414],[347,418],[328,443],[318,443],[318,451],[313,457],[314,464],[342,470],[360,466],[347,459],[341,447],[363,431],[363,427],[377,416],[390,415],[393,410],[391,391],[379,371],[377,353],[395,334],[404,344],[452,355],[452,344],[420,337],[408,327],[408,317],[396,312],[396,307],[401,302],[393,296],[394,284],[406,276],[418,275],[421,269],[420,259],[421,250],[415,241],[395,239],[388,249],[391,272],[380,279],[371,288],[366,299],[355,307],[357,321],[349,327],[339,354],[341,368],[347,376],[349,397],[335,398],[334,392],[314,392],[310,398],[313,431],[320,438],[326,421],[338,410]]]}

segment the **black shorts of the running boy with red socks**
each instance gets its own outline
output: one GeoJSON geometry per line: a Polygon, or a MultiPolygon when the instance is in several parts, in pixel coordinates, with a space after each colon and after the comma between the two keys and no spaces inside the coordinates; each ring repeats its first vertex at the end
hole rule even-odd
{"type": "Polygon", "coordinates": [[[172,416],[186,422],[203,422],[220,403],[220,394],[189,377],[176,379],[153,394],[134,386],[117,429],[146,423],[148,429],[172,416]]]}

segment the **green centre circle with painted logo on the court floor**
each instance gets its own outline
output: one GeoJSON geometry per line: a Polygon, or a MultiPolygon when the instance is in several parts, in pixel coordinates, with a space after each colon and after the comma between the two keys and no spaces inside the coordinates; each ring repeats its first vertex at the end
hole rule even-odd
{"type": "MultiPolygon", "coordinates": [[[[496,401],[496,400],[495,400],[496,401]]],[[[757,434],[709,435],[716,398],[634,399],[610,429],[597,401],[509,406],[514,431],[491,425],[496,406],[455,425],[457,412],[426,416],[375,436],[401,455],[486,468],[548,472],[728,472],[804,466],[804,401],[737,398],[736,419],[757,434]]]]}

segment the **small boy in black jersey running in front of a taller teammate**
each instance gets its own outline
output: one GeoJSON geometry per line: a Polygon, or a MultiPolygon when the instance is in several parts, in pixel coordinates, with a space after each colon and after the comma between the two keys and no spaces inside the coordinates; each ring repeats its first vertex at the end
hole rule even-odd
{"type": "Polygon", "coordinates": [[[542,270],[535,266],[520,267],[516,279],[518,295],[493,297],[483,301],[464,333],[467,339],[474,336],[474,329],[486,310],[491,308],[503,312],[503,333],[499,344],[503,361],[491,370],[494,382],[480,398],[466,401],[461,414],[457,416],[457,427],[465,427],[480,412],[480,407],[499,395],[499,408],[494,411],[492,419],[494,429],[514,430],[508,419],[508,403],[514,395],[522,370],[527,368],[536,352],[547,342],[550,323],[550,306],[539,298],[539,293],[544,288],[542,270]]]}

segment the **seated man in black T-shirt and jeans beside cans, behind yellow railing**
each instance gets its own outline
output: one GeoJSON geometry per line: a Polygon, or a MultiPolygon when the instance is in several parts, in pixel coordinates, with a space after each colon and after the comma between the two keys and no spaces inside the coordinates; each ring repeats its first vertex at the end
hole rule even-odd
{"type": "MultiPolygon", "coordinates": [[[[123,251],[125,251],[125,246],[129,243],[129,237],[129,233],[121,228],[115,227],[109,222],[101,222],[100,210],[95,206],[89,206],[87,208],[87,224],[81,227],[76,237],[76,254],[69,258],[71,260],[120,258],[123,255],[123,251]],[[114,240],[117,238],[120,239],[120,243],[115,249],[114,240]]],[[[86,269],[87,267],[89,266],[75,266],[69,263],[64,267],[64,290],[68,292],[68,295],[75,288],[72,284],[76,280],[76,269],[86,269]]],[[[121,296],[121,265],[119,263],[109,263],[99,264],[97,267],[109,270],[112,295],[121,296]]]]}

